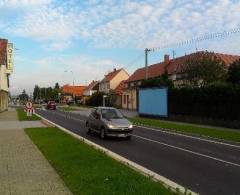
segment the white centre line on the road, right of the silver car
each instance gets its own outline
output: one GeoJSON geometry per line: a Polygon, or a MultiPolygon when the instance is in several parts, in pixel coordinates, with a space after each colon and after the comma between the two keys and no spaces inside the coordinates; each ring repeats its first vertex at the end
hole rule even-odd
{"type": "Polygon", "coordinates": [[[132,134],[132,136],[137,137],[139,139],[146,140],[146,141],[150,141],[150,142],[153,142],[153,143],[161,144],[163,146],[167,146],[167,147],[170,147],[170,148],[174,148],[174,149],[177,149],[177,150],[188,152],[188,153],[191,153],[191,154],[194,154],[194,155],[197,155],[197,156],[209,158],[209,159],[212,159],[212,160],[215,160],[215,161],[219,161],[219,162],[222,162],[222,163],[226,163],[226,164],[230,164],[230,165],[233,165],[233,166],[240,167],[240,164],[225,161],[225,160],[222,160],[220,158],[215,158],[215,157],[208,156],[208,155],[205,155],[205,154],[201,154],[201,153],[198,153],[198,152],[193,152],[193,151],[188,150],[188,149],[184,149],[184,148],[180,148],[180,147],[177,147],[177,146],[169,145],[169,144],[166,144],[166,143],[163,143],[163,142],[159,142],[159,141],[152,140],[152,139],[149,139],[149,138],[145,138],[145,137],[142,137],[142,136],[138,136],[138,135],[135,135],[135,134],[132,134]]]}

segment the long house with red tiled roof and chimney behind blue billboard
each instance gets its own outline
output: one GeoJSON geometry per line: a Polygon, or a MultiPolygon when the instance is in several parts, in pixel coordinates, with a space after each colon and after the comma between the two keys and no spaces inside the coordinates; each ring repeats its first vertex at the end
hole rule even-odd
{"type": "MultiPolygon", "coordinates": [[[[170,59],[169,55],[165,55],[163,62],[148,66],[148,78],[156,78],[167,72],[169,78],[174,82],[175,85],[181,85],[183,84],[183,67],[186,62],[191,58],[198,58],[203,53],[203,51],[199,51],[174,59],[170,59]]],[[[236,55],[220,53],[211,54],[218,59],[221,59],[227,67],[229,67],[234,61],[240,59],[240,56],[236,55]]],[[[145,79],[145,75],[145,67],[139,68],[126,81],[127,87],[123,93],[123,99],[126,99],[126,104],[122,104],[123,108],[133,110],[137,109],[137,88],[145,79]]]]}

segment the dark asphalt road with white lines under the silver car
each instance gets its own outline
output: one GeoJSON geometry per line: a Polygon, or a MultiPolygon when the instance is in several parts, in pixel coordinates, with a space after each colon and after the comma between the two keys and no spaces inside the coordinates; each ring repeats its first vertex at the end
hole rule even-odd
{"type": "Polygon", "coordinates": [[[85,116],[37,111],[43,117],[199,194],[240,194],[240,146],[135,127],[131,140],[88,135],[85,116]]]}

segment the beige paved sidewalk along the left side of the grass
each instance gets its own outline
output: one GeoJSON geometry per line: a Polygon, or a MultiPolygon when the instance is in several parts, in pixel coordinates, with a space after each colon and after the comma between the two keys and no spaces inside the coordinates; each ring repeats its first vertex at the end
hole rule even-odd
{"type": "Polygon", "coordinates": [[[16,116],[14,110],[0,114],[0,194],[71,194],[23,129],[2,128],[19,124],[16,116]]]}

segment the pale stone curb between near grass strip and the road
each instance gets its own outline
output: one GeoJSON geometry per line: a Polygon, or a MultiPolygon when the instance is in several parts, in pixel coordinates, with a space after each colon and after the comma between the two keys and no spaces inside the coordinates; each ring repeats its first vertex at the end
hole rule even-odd
{"type": "Polygon", "coordinates": [[[179,185],[179,184],[177,184],[177,183],[175,183],[175,182],[173,182],[173,181],[171,181],[171,180],[169,180],[169,179],[167,179],[167,178],[165,178],[165,177],[163,177],[163,176],[161,176],[161,175],[159,175],[159,174],[157,174],[157,173],[155,173],[155,172],[153,172],[153,171],[151,171],[151,170],[149,170],[149,169],[147,169],[147,168],[145,168],[145,167],[143,167],[143,166],[141,166],[141,165],[139,165],[135,162],[132,162],[132,161],[130,161],[130,160],[128,160],[128,159],[126,159],[126,158],[124,158],[124,157],[122,157],[122,156],[120,156],[120,155],[118,155],[118,154],[116,154],[116,153],[98,145],[98,144],[95,144],[94,142],[92,142],[92,141],[90,141],[90,140],[88,140],[88,139],[86,139],[86,138],[84,138],[80,135],[77,135],[77,134],[69,131],[68,129],[66,129],[66,128],[64,128],[64,127],[46,119],[46,118],[44,118],[43,116],[41,116],[37,113],[36,113],[36,115],[39,116],[40,118],[42,118],[43,120],[47,121],[48,123],[54,125],[55,127],[59,128],[60,130],[66,132],[67,134],[83,141],[84,143],[94,147],[95,149],[97,149],[99,151],[102,151],[104,154],[110,156],[111,158],[117,160],[118,162],[121,162],[121,163],[127,165],[128,167],[134,169],[135,171],[145,175],[146,177],[149,177],[153,181],[160,182],[166,188],[169,188],[170,190],[172,190],[175,193],[198,195],[197,193],[195,193],[195,192],[193,192],[189,189],[186,189],[183,186],[181,186],[181,185],[179,185]]]}

